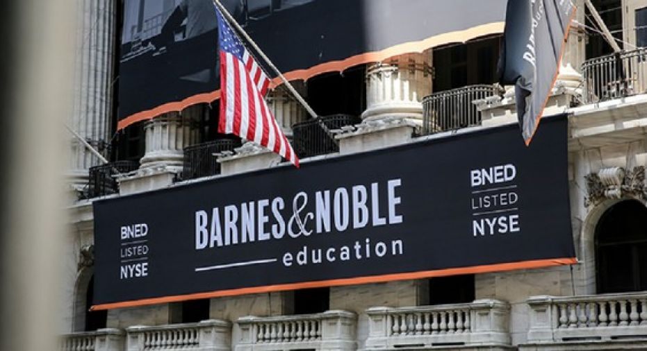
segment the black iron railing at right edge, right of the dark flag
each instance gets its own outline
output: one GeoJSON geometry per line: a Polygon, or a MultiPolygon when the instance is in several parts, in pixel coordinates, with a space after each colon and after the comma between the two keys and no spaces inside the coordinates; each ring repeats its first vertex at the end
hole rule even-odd
{"type": "Polygon", "coordinates": [[[591,58],[582,64],[584,103],[647,92],[647,48],[591,58]]]}

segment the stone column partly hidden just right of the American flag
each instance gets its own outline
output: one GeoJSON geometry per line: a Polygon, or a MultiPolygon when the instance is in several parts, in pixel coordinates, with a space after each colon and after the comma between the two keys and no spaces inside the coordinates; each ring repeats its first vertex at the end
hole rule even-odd
{"type": "MultiPolygon", "coordinates": [[[[297,89],[299,86],[299,84],[295,84],[297,89]]],[[[268,101],[268,107],[276,117],[279,127],[283,129],[286,137],[292,139],[293,124],[304,121],[308,112],[293,96],[290,96],[286,89],[281,87],[269,92],[265,99],[268,101]]]]}

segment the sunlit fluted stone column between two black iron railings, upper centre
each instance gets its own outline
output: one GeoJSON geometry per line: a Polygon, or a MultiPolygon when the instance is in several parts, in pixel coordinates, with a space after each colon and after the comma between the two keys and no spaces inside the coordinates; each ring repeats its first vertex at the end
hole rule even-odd
{"type": "Polygon", "coordinates": [[[370,65],[366,70],[366,111],[375,121],[404,117],[421,124],[423,97],[432,92],[432,53],[407,53],[370,65]]]}

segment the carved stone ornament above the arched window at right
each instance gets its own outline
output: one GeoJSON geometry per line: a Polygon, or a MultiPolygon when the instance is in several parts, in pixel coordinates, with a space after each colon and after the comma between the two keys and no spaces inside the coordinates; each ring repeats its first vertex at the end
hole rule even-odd
{"type": "Polygon", "coordinates": [[[584,205],[598,205],[607,198],[622,198],[630,196],[647,200],[647,185],[645,183],[645,166],[634,167],[625,171],[622,167],[601,169],[598,173],[584,176],[587,180],[588,196],[584,205]]]}

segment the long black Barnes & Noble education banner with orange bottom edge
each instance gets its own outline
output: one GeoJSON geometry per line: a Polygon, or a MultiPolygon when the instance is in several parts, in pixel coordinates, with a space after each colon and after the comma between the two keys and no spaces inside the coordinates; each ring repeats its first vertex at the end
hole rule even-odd
{"type": "Polygon", "coordinates": [[[99,200],[94,304],[572,263],[566,123],[99,200]]]}

